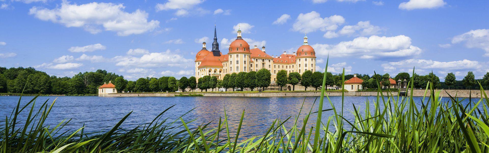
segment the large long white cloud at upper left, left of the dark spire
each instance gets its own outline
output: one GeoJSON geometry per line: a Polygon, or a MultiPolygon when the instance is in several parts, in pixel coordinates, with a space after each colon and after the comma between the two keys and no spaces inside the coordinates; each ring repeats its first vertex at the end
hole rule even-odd
{"type": "Polygon", "coordinates": [[[128,13],[124,8],[124,5],[114,3],[91,2],[77,5],[63,1],[61,7],[54,9],[34,6],[29,14],[66,27],[83,27],[92,34],[101,32],[102,27],[106,31],[117,32],[119,36],[141,34],[159,27],[159,21],[148,21],[148,13],[145,11],[137,9],[128,13]]]}

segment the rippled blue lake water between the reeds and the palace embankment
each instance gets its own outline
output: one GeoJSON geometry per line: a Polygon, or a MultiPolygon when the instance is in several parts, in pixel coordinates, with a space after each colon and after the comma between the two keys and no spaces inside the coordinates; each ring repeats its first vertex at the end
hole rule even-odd
{"type": "MultiPolygon", "coordinates": [[[[33,96],[22,97],[22,103],[29,102],[33,96]]],[[[50,104],[55,98],[56,103],[49,114],[47,125],[55,126],[65,119],[72,119],[65,129],[76,130],[83,127],[85,131],[101,131],[107,130],[108,127],[115,125],[126,114],[133,111],[122,125],[122,128],[133,128],[137,125],[151,122],[159,113],[168,107],[175,105],[169,109],[164,118],[169,117],[170,121],[175,121],[179,116],[190,111],[183,118],[185,121],[197,119],[189,124],[191,127],[196,127],[202,123],[214,121],[211,126],[215,126],[219,122],[219,118],[224,116],[224,109],[228,114],[229,127],[236,129],[239,124],[241,113],[243,110],[244,121],[240,137],[249,138],[251,136],[262,135],[267,131],[267,128],[275,119],[285,120],[292,116],[289,122],[284,124],[286,127],[293,125],[293,120],[299,114],[302,103],[304,102],[303,113],[299,117],[299,121],[304,118],[305,114],[311,109],[317,111],[319,97],[316,104],[313,105],[316,97],[96,97],[96,96],[40,96],[37,98],[36,107],[39,108],[41,103],[46,100],[50,104]]],[[[396,97],[397,98],[397,97],[396,97]]],[[[330,97],[338,111],[341,110],[341,97],[330,97]]],[[[345,97],[345,118],[353,122],[352,115],[353,104],[357,109],[365,108],[367,100],[373,107],[374,96],[346,96],[345,97]]],[[[415,97],[415,102],[420,103],[422,97],[415,97]]],[[[427,98],[426,98],[427,99],[427,98]]],[[[10,116],[10,113],[17,105],[18,96],[1,96],[0,97],[0,115],[4,120],[5,116],[10,116]]],[[[387,99],[386,99],[387,100],[387,99]]],[[[443,98],[443,101],[448,101],[448,98],[443,98]]],[[[478,101],[476,99],[475,101],[478,101]]],[[[467,103],[468,99],[463,103],[467,103]]],[[[421,104],[420,104],[421,105],[421,104]]],[[[29,109],[30,107],[26,108],[29,109]]],[[[323,109],[331,108],[325,97],[323,109]]],[[[37,109],[36,109],[37,110],[37,109]]],[[[363,111],[362,111],[363,112],[363,111]]],[[[24,110],[20,116],[20,120],[25,120],[28,110],[24,110]]],[[[316,113],[317,114],[317,113],[316,113]]],[[[323,122],[326,122],[328,117],[333,116],[332,111],[323,112],[323,122]]],[[[316,116],[311,115],[309,123],[315,124],[316,116]]],[[[178,121],[180,122],[180,121],[178,121]]],[[[301,122],[302,123],[302,122],[301,122]]],[[[1,126],[4,122],[0,122],[1,126]]],[[[325,123],[326,124],[326,123],[325,123]]]]}

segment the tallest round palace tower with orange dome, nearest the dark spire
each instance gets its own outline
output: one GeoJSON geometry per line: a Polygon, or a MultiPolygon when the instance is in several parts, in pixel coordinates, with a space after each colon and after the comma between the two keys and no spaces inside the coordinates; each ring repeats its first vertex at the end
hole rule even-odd
{"type": "Polygon", "coordinates": [[[241,30],[238,29],[238,37],[229,45],[229,73],[249,72],[251,52],[249,45],[241,37],[241,30]]]}

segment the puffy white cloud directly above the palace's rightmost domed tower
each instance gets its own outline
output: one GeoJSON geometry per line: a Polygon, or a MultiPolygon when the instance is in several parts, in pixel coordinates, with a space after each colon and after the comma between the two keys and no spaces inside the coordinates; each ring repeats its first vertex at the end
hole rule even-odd
{"type": "Polygon", "coordinates": [[[345,23],[345,18],[339,15],[333,15],[326,18],[321,18],[321,15],[315,11],[306,14],[299,14],[295,23],[292,25],[292,30],[309,33],[316,30],[328,31],[336,30],[339,25],[345,23]]]}

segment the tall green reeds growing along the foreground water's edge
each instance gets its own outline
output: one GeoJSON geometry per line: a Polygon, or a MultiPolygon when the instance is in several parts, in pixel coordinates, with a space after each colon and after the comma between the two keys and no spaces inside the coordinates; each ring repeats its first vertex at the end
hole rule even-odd
{"type": "MultiPolygon", "coordinates": [[[[344,70],[342,78],[344,80],[344,70]]],[[[412,90],[411,82],[412,79],[408,86],[412,90]]],[[[229,125],[236,123],[228,122],[225,110],[222,118],[213,121],[217,127],[210,127],[211,122],[192,128],[188,124],[195,120],[185,122],[185,114],[174,121],[162,117],[172,106],[152,122],[135,128],[120,127],[131,115],[128,113],[109,131],[87,133],[85,127],[74,131],[64,129],[70,120],[55,127],[46,126],[44,122],[56,100],[42,102],[40,109],[34,109],[37,96],[24,105],[21,105],[21,96],[11,115],[0,122],[0,152],[488,153],[489,99],[482,86],[480,93],[483,98],[468,98],[465,105],[461,103],[465,98],[459,99],[456,95],[450,95],[449,101],[442,102],[441,92],[428,83],[426,96],[421,102],[414,102],[412,93],[394,96],[395,93],[399,95],[400,91],[382,92],[378,84],[378,96],[373,106],[367,101],[365,108],[359,110],[352,104],[354,110],[349,112],[355,120],[347,120],[344,115],[349,112],[344,106],[349,102],[342,96],[341,105],[333,105],[324,94],[323,80],[317,111],[311,108],[304,112],[301,106],[294,118],[274,120],[264,131],[265,134],[244,140],[240,139],[240,132],[245,110],[237,131],[232,132],[229,125]],[[27,119],[22,121],[24,124],[20,124],[18,119],[22,111],[28,111],[27,119]],[[323,118],[324,111],[332,111],[334,115],[323,118]],[[301,113],[305,113],[305,118],[299,121],[301,113]],[[316,123],[308,127],[310,115],[315,113],[316,123]],[[286,127],[284,123],[288,122],[293,125],[286,127]]],[[[344,95],[344,91],[342,93],[344,95]]]]}

